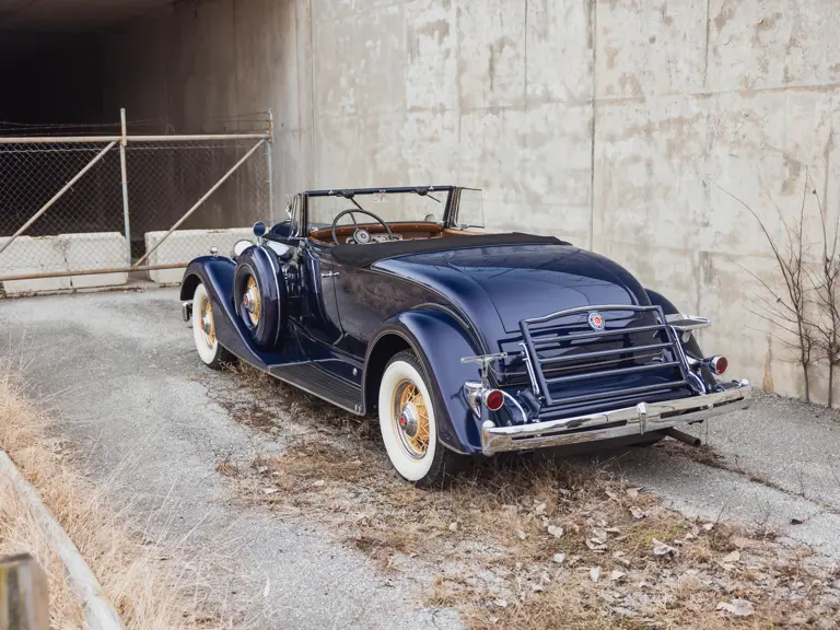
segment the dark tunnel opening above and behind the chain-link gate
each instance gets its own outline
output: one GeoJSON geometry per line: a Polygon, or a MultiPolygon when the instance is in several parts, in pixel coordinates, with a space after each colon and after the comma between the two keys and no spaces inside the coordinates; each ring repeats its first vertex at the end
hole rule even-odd
{"type": "MultiPolygon", "coordinates": [[[[119,142],[100,156],[108,142],[60,142],[58,138],[118,137],[119,107],[127,110],[129,136],[218,133],[231,127],[226,121],[198,126],[179,116],[177,108],[177,124],[172,124],[171,90],[183,90],[191,97],[202,94],[167,82],[165,42],[144,40],[147,26],[154,32],[161,20],[138,20],[138,31],[135,19],[105,25],[68,18],[38,32],[39,25],[10,30],[3,18],[0,11],[0,247],[4,237],[24,226],[26,237],[128,234],[137,260],[145,252],[145,234],[170,229],[256,142],[128,142],[127,230],[119,142]],[[115,46],[120,40],[128,44],[115,46]],[[3,141],[24,138],[25,143],[3,141]],[[95,165],[27,225],[97,156],[95,165]]],[[[90,15],[84,19],[91,20],[90,15]]],[[[267,125],[258,130],[265,129],[267,125]]],[[[252,224],[255,215],[267,218],[268,178],[260,149],[180,229],[228,229],[252,224]]],[[[7,254],[7,262],[9,258],[7,254]]]]}

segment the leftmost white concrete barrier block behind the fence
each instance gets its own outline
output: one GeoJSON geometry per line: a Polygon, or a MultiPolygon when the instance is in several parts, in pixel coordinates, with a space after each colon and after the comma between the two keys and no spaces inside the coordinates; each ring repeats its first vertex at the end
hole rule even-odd
{"type": "MultiPolygon", "coordinates": [[[[4,244],[9,237],[0,237],[4,244]]],[[[19,236],[0,254],[0,278],[26,273],[67,271],[65,248],[59,236],[19,236]]],[[[69,277],[0,281],[7,295],[22,295],[71,289],[69,277]]]]}

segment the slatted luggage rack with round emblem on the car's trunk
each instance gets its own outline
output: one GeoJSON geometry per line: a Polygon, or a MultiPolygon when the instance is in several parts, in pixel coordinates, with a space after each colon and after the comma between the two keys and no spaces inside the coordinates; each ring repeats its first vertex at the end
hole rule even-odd
{"type": "Polygon", "coordinates": [[[690,374],[688,361],[679,339],[674,329],[668,325],[660,306],[634,306],[628,304],[581,306],[558,311],[557,313],[551,313],[542,317],[522,319],[520,322],[520,328],[523,338],[521,345],[524,349],[524,360],[528,376],[532,381],[532,387],[534,388],[535,396],[540,399],[544,407],[573,407],[580,409],[587,402],[604,404],[611,400],[626,400],[632,396],[665,394],[680,387],[697,388],[696,380],[691,377],[692,374],[690,374]],[[623,313],[623,315],[617,315],[620,313],[623,313]],[[628,315],[628,313],[630,313],[630,315],[628,315]],[[633,315],[642,315],[645,313],[653,314],[656,323],[643,323],[642,325],[635,326],[616,325],[616,323],[626,323],[628,319],[632,318],[633,315]],[[587,314],[590,320],[592,320],[593,317],[597,320],[597,317],[600,316],[602,329],[596,329],[595,326],[590,324],[593,328],[591,331],[576,332],[568,330],[569,328],[580,328],[582,323],[585,324],[585,320],[551,324],[557,319],[579,314],[587,314]],[[609,323],[614,324],[612,327],[609,326],[609,323]],[[627,335],[635,332],[650,332],[651,340],[656,341],[654,337],[658,336],[661,338],[661,332],[663,331],[667,341],[660,340],[642,346],[628,346],[627,342],[625,342],[621,343],[620,348],[593,350],[588,352],[567,352],[563,354],[557,354],[557,352],[555,352],[555,355],[546,355],[551,353],[551,351],[568,351],[573,349],[574,346],[580,342],[593,340],[602,341],[604,339],[620,337],[627,339],[627,335]],[[640,355],[651,353],[655,353],[655,358],[649,362],[620,365],[620,363],[633,361],[634,359],[638,360],[640,355]],[[607,360],[610,363],[619,363],[619,365],[607,370],[597,368],[594,371],[584,370],[565,376],[549,377],[546,375],[547,370],[557,370],[563,366],[586,368],[586,365],[580,365],[580,363],[586,362],[587,360],[596,360],[596,364],[603,364],[603,361],[607,360]],[[672,374],[678,374],[679,376],[676,380],[668,377],[660,383],[643,386],[609,388],[607,390],[595,390],[590,394],[570,396],[558,395],[557,392],[552,394],[550,388],[551,385],[574,384],[580,383],[581,381],[620,377],[653,371],[661,371],[664,373],[667,370],[670,370],[672,374]]]}

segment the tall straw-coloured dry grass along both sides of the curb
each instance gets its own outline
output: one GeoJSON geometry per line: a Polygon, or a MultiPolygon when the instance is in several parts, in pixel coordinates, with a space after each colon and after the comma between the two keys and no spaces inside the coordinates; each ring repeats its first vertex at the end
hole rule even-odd
{"type": "MultiPolygon", "coordinates": [[[[179,549],[141,540],[94,487],[66,460],[48,436],[48,419],[0,372],[0,446],[80,549],[129,629],[218,628],[223,622],[203,602],[202,587],[179,549]]],[[[3,478],[4,479],[4,478],[3,478]]],[[[8,481],[0,482],[0,555],[30,552],[48,575],[54,628],[81,628],[81,606],[63,564],[39,524],[8,481]]]]}

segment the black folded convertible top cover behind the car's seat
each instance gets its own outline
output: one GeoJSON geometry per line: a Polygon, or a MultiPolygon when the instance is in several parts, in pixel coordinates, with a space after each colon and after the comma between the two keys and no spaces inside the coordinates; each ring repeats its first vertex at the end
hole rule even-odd
{"type": "Polygon", "coordinates": [[[348,267],[369,267],[377,260],[404,256],[406,254],[423,254],[427,252],[446,252],[447,249],[464,249],[467,247],[487,247],[491,245],[533,245],[550,243],[569,245],[555,236],[537,236],[509,232],[504,234],[481,234],[476,236],[447,236],[445,238],[419,238],[416,241],[388,241],[370,245],[335,245],[332,256],[348,267]]]}

